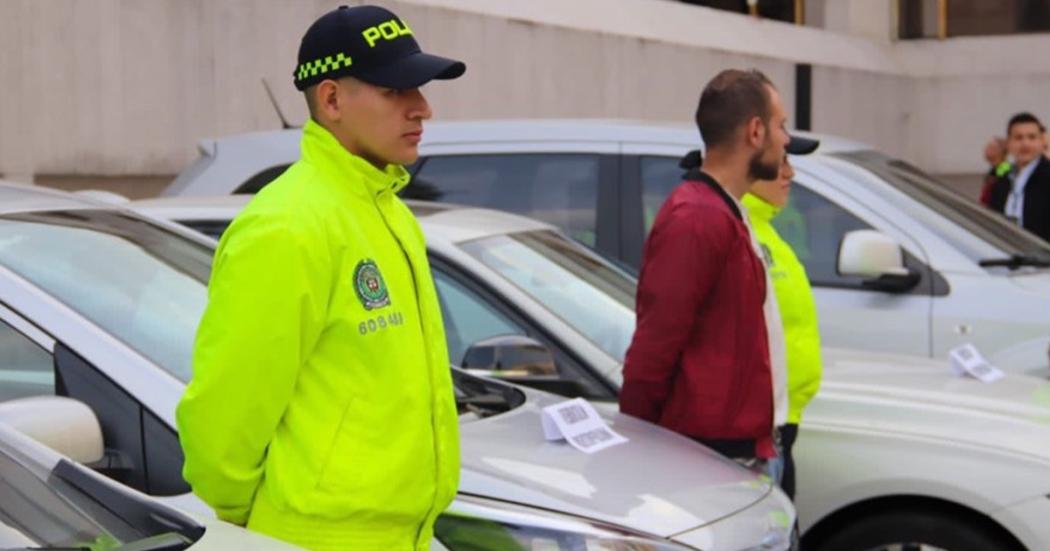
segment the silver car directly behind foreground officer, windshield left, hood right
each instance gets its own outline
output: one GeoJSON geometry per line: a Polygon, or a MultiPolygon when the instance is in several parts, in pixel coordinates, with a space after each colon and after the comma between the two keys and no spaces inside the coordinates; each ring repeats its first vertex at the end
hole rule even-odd
{"type": "MultiPolygon", "coordinates": [[[[86,404],[105,436],[92,468],[202,514],[209,509],[182,478],[174,411],[213,247],[172,222],[0,185],[0,401],[58,395],[86,404]]],[[[606,412],[629,441],[584,454],[544,438],[542,407],[562,398],[460,372],[454,379],[461,484],[435,549],[496,532],[525,549],[789,549],[795,513],[783,493],[704,446],[606,412]]]]}

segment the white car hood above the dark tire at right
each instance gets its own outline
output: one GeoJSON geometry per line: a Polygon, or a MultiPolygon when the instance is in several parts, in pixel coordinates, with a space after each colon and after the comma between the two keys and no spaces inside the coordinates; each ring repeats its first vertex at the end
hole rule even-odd
{"type": "Polygon", "coordinates": [[[1050,464],[1050,382],[957,377],[947,360],[824,349],[824,380],[803,427],[887,431],[1050,464]]]}

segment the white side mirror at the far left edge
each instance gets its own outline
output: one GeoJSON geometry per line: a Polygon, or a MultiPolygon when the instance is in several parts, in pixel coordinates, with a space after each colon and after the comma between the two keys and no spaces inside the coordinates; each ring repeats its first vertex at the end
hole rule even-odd
{"type": "Polygon", "coordinates": [[[2,402],[0,423],[78,463],[94,463],[103,458],[99,418],[77,400],[42,396],[2,402]]]}

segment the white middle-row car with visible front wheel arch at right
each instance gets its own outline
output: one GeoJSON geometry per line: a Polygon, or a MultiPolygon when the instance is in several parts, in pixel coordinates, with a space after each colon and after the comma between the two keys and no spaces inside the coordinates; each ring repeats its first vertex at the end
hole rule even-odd
{"type": "MultiPolygon", "coordinates": [[[[220,232],[247,200],[131,207],[220,232]]],[[[454,363],[569,396],[614,396],[634,326],[633,278],[540,221],[411,206],[454,363]],[[510,360],[523,349],[523,361],[510,360]]],[[[986,384],[908,356],[824,356],[796,446],[804,549],[1050,549],[1050,383],[1008,375],[986,384]]]]}

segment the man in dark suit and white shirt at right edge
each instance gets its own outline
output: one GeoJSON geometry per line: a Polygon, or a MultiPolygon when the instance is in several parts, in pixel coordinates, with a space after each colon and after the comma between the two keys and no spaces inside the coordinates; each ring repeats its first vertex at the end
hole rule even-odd
{"type": "Polygon", "coordinates": [[[989,207],[1050,242],[1050,161],[1045,156],[1046,128],[1032,113],[1010,118],[1006,148],[1013,169],[991,190],[989,207]]]}

